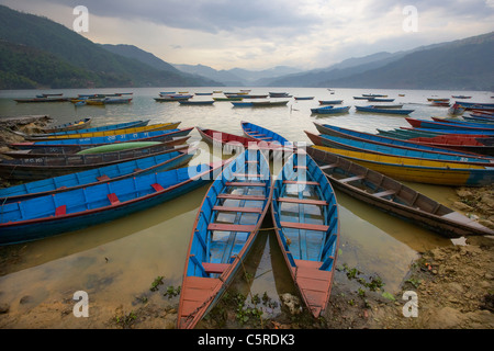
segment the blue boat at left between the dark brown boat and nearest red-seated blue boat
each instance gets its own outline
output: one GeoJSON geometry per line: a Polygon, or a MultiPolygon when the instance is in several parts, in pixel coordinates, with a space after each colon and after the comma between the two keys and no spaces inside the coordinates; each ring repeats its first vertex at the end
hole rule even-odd
{"type": "Polygon", "coordinates": [[[183,146],[157,156],[0,189],[0,203],[18,202],[128,177],[166,171],[186,166],[195,152],[197,148],[183,146]]]}

